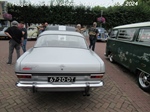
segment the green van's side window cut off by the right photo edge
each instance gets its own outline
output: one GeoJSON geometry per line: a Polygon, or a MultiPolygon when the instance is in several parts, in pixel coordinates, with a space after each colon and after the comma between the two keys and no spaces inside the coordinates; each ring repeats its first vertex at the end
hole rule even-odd
{"type": "Polygon", "coordinates": [[[140,29],[138,41],[139,42],[150,42],[150,29],[148,29],[148,28],[140,29]]]}

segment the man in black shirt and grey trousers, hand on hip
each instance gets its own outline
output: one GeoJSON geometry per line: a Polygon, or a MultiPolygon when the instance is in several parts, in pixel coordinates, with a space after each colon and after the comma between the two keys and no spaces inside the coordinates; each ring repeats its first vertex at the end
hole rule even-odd
{"type": "Polygon", "coordinates": [[[14,48],[16,49],[17,59],[20,57],[20,46],[22,45],[23,34],[18,28],[18,22],[12,21],[11,27],[5,30],[5,34],[10,38],[9,40],[9,56],[7,64],[12,64],[12,54],[14,48]]]}

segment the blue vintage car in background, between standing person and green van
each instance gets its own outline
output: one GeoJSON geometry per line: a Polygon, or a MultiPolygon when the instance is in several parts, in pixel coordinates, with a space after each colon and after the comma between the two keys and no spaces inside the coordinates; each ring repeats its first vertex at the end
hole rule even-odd
{"type": "Polygon", "coordinates": [[[108,38],[107,31],[102,27],[97,27],[97,29],[98,29],[98,32],[99,32],[97,40],[98,41],[107,41],[107,38],[108,38]]]}

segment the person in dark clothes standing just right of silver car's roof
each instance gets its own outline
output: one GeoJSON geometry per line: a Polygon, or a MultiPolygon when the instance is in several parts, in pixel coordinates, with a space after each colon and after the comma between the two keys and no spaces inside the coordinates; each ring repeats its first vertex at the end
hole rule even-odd
{"type": "Polygon", "coordinates": [[[93,27],[91,27],[89,29],[89,41],[90,41],[90,45],[89,45],[89,48],[94,51],[95,49],[95,43],[97,41],[97,36],[98,36],[98,30],[96,29],[96,26],[97,26],[97,23],[94,22],[93,23],[93,27]]]}

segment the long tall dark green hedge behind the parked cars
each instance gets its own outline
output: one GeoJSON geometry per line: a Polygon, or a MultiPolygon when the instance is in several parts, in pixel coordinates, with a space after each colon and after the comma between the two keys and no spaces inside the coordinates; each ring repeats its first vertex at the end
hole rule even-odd
{"type": "Polygon", "coordinates": [[[8,4],[7,8],[8,13],[12,14],[13,20],[25,21],[26,23],[48,22],[49,24],[62,25],[92,25],[97,20],[97,17],[101,16],[101,11],[103,11],[102,16],[106,19],[106,23],[102,24],[102,26],[106,29],[123,24],[150,21],[150,2],[148,0],[147,2],[146,0],[126,0],[125,2],[138,1],[138,5],[126,6],[124,3],[122,6],[110,6],[107,8],[100,6],[93,8],[83,5],[73,6],[69,0],[56,1],[57,4],[55,3],[55,5],[54,2],[51,2],[48,6],[44,4],[36,6],[30,3],[24,5],[22,3],[20,6],[8,4]]]}

